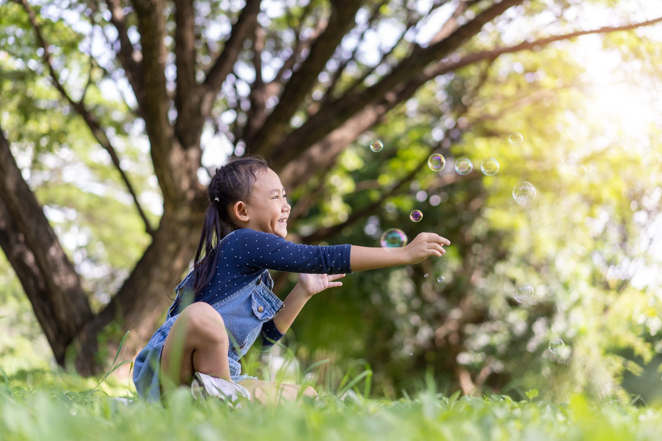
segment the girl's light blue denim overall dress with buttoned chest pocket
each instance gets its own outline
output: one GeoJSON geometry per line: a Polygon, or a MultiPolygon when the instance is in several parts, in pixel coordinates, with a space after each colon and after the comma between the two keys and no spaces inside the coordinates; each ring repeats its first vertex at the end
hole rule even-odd
{"type": "MultiPolygon", "coordinates": [[[[260,336],[262,324],[273,319],[273,316],[283,309],[283,302],[271,292],[273,280],[269,271],[265,270],[255,280],[246,284],[236,292],[222,300],[216,301],[212,307],[221,315],[230,339],[228,348],[228,362],[230,363],[230,375],[232,381],[247,380],[257,377],[241,374],[240,358],[248,352],[248,349],[260,336]],[[262,276],[266,272],[269,286],[262,282],[262,276]]],[[[193,271],[189,272],[182,282],[177,285],[175,291],[177,298],[168,309],[166,323],[156,330],[152,338],[136,357],[133,371],[133,381],[136,391],[142,399],[160,403],[161,391],[159,388],[159,375],[161,354],[163,352],[166,337],[179,313],[172,315],[181,298],[181,288],[189,281],[193,271]]]]}

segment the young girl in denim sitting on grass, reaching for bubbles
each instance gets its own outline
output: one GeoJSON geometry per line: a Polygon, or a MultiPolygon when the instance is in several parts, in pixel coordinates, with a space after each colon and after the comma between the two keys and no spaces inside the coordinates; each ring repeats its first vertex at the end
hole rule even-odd
{"type": "Polygon", "coordinates": [[[148,401],[160,402],[164,391],[181,384],[191,384],[196,397],[229,403],[240,396],[261,402],[314,397],[312,387],[241,374],[240,358],[260,336],[266,347],[281,339],[310,297],[342,286],[335,280],[346,273],[415,264],[441,257],[443,245],[450,245],[435,233],[420,233],[402,248],[286,241],[291,207],[285,188],[259,157],[233,157],[216,169],[207,196],[193,270],[175,289],[166,322],[136,358],[133,380],[148,401]],[[271,292],[268,270],[299,273],[284,302],[271,292]]]}

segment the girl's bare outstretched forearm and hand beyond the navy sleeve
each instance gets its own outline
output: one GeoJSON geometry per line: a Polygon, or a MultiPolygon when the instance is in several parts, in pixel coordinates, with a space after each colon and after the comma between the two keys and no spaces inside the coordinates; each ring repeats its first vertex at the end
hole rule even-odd
{"type": "Polygon", "coordinates": [[[352,271],[374,270],[414,264],[430,256],[442,257],[446,250],[443,245],[450,241],[436,233],[420,233],[409,245],[402,248],[371,248],[352,245],[350,265],[352,271]]]}

